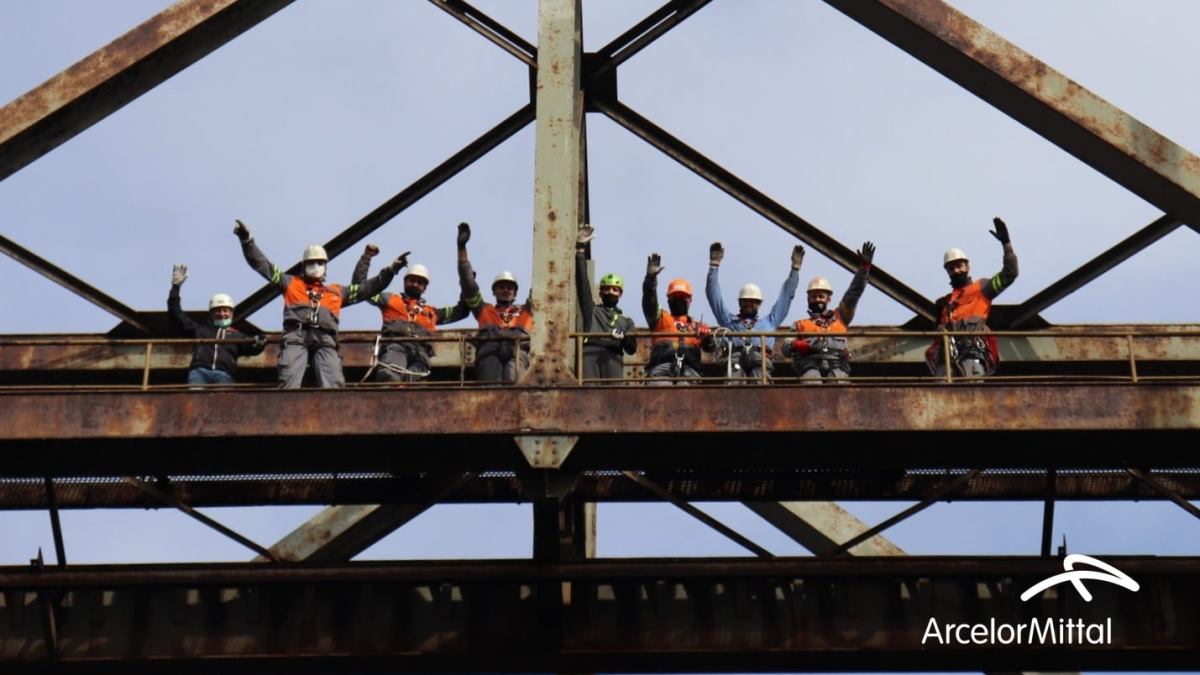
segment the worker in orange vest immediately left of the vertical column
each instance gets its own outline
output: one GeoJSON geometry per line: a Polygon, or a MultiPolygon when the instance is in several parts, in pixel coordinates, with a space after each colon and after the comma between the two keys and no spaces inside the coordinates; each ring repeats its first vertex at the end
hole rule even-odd
{"type": "Polygon", "coordinates": [[[458,286],[462,301],[479,322],[475,344],[475,380],[479,382],[515,382],[517,358],[521,368],[529,365],[529,331],[533,330],[533,301],[526,299],[517,305],[517,277],[511,271],[502,271],[492,280],[496,303],[485,303],[475,281],[475,269],[467,257],[470,226],[458,223],[458,286]],[[520,342],[520,348],[517,344],[520,342]]]}

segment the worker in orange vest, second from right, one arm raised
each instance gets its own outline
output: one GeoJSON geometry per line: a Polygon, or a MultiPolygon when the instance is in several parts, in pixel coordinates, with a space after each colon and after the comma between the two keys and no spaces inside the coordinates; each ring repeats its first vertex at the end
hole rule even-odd
{"type": "Polygon", "coordinates": [[[784,342],[784,354],[792,357],[796,375],[804,382],[816,383],[822,378],[830,381],[850,377],[850,345],[841,334],[854,321],[858,299],[866,289],[866,279],[871,274],[871,261],[875,259],[875,244],[866,241],[858,251],[858,271],[850,281],[850,287],[841,297],[838,309],[830,310],[833,285],[823,276],[816,276],[809,282],[809,317],[802,318],[792,327],[797,333],[828,333],[828,335],[805,335],[784,342]]]}

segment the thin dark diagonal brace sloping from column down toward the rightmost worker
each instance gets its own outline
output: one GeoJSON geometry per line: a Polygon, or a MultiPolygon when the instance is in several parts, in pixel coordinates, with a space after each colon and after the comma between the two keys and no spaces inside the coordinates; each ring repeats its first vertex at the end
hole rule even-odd
{"type": "MultiPolygon", "coordinates": [[[[625,106],[620,101],[605,100],[590,100],[589,104],[607,115],[612,121],[625,127],[634,136],[646,141],[672,160],[692,171],[696,175],[712,183],[730,197],[742,202],[785,232],[812,246],[830,261],[851,271],[858,269],[858,255],[853,249],[787,210],[779,202],[756,190],[749,183],[742,180],[713,160],[701,155],[683,141],[671,136],[666,130],[643,118],[629,106],[625,106]]],[[[871,268],[870,281],[883,294],[917,312],[918,316],[930,322],[936,318],[937,315],[932,300],[904,285],[887,271],[877,267],[871,268]]]]}

